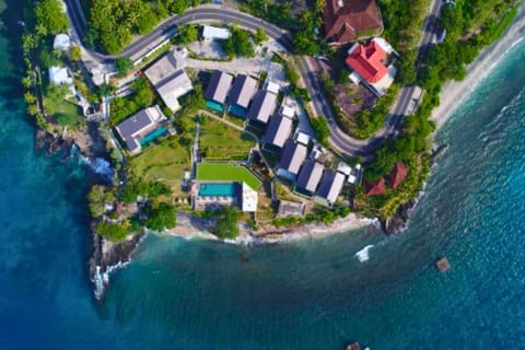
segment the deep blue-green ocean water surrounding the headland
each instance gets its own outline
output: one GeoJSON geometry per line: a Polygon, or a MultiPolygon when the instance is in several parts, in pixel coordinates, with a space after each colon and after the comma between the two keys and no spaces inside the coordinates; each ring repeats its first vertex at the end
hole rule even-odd
{"type": "Polygon", "coordinates": [[[7,40],[18,15],[0,36],[0,349],[525,348],[525,44],[440,131],[451,147],[404,234],[249,247],[149,236],[98,304],[89,178],[35,153],[7,40]]]}

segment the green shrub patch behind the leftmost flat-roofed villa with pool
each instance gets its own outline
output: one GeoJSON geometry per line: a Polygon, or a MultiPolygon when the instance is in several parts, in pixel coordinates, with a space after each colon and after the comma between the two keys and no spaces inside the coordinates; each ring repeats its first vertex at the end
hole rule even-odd
{"type": "Polygon", "coordinates": [[[112,100],[109,122],[113,126],[153,103],[153,92],[145,78],[137,79],[131,89],[135,91],[131,95],[112,100]]]}

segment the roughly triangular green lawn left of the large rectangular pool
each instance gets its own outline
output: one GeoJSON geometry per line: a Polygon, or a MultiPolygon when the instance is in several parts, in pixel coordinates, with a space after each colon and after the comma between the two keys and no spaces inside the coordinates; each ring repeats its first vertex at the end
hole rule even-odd
{"type": "Polygon", "coordinates": [[[163,140],[132,158],[129,162],[137,176],[170,185],[174,197],[187,196],[182,190],[184,172],[191,170],[190,147],[182,145],[179,137],[163,140]]]}

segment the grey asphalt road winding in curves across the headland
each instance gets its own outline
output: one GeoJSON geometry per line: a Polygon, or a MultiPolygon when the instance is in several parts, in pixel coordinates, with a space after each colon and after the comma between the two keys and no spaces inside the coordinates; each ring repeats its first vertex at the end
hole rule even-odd
{"type": "MultiPolygon", "coordinates": [[[[68,14],[77,32],[79,38],[85,37],[88,23],[85,22],[82,8],[79,0],[65,0],[68,14]]],[[[436,16],[440,10],[441,0],[433,0],[431,4],[431,11],[428,18],[436,16]]],[[[257,30],[261,27],[266,34],[278,42],[288,52],[293,52],[292,35],[277,27],[273,24],[265,22],[261,19],[257,19],[247,13],[224,9],[218,5],[203,5],[197,9],[186,11],[184,15],[172,16],[168,20],[162,22],[152,33],[142,36],[132,42],[126,47],[119,55],[104,55],[98,51],[89,49],[86,45],[83,45],[84,50],[89,55],[96,59],[101,63],[110,63],[116,58],[128,57],[132,60],[145,55],[150,51],[154,43],[168,39],[176,34],[178,25],[191,23],[191,22],[206,22],[217,21],[223,23],[236,23],[240,26],[248,30],[257,30]]],[[[423,25],[423,37],[419,45],[419,50],[422,51],[427,48],[427,45],[431,42],[432,34],[432,21],[425,21],[423,25]]],[[[83,43],[85,44],[85,43],[83,43]]],[[[330,145],[348,155],[363,155],[369,156],[374,150],[376,150],[386,137],[395,136],[401,126],[402,117],[407,115],[407,110],[410,106],[410,101],[415,93],[416,86],[404,86],[399,93],[396,105],[392,108],[390,114],[386,117],[384,127],[372,138],[368,140],[359,140],[345,133],[336,122],[332,110],[320,90],[320,84],[317,78],[317,73],[314,69],[316,65],[315,59],[312,57],[300,56],[299,69],[302,79],[308,90],[312,97],[313,106],[317,116],[325,116],[328,119],[331,136],[329,138],[330,145]]]]}

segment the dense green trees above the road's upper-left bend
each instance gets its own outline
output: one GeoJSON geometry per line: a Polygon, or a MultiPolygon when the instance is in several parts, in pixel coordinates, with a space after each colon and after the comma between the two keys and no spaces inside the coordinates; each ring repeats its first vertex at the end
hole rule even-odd
{"type": "Polygon", "coordinates": [[[172,13],[183,14],[200,0],[91,0],[88,43],[118,54],[133,34],[148,34],[172,13]]]}

